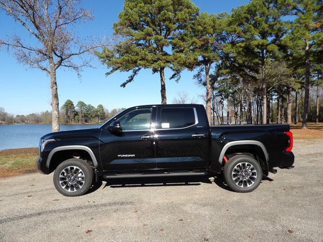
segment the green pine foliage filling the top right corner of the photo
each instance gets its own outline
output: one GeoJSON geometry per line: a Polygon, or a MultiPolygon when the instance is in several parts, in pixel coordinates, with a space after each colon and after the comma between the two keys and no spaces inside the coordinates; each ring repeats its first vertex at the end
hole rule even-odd
{"type": "Polygon", "coordinates": [[[305,75],[305,44],[308,42],[310,63],[314,66],[323,62],[323,1],[317,0],[284,0],[280,1],[280,8],[286,15],[293,16],[294,21],[287,24],[290,31],[282,43],[287,49],[287,60],[294,73],[302,78],[305,75]]]}

